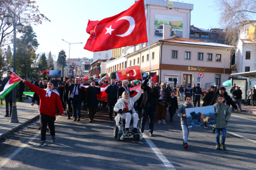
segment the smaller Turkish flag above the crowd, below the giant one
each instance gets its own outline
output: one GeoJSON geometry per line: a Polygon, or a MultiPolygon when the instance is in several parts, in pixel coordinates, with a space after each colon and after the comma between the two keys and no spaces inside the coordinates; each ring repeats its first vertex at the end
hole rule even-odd
{"type": "Polygon", "coordinates": [[[142,73],[140,72],[140,66],[135,65],[127,67],[126,69],[116,71],[119,77],[119,81],[125,79],[138,80],[142,79],[142,73]]]}

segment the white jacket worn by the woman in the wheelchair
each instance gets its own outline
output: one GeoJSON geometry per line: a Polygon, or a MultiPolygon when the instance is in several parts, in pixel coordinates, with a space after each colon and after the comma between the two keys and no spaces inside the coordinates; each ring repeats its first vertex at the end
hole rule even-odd
{"type": "MultiPolygon", "coordinates": [[[[136,113],[136,111],[134,110],[133,105],[134,105],[135,101],[137,101],[137,100],[140,98],[141,94],[142,94],[142,89],[140,89],[140,90],[138,91],[138,94],[136,94],[133,98],[129,98],[129,103],[130,103],[130,105],[131,105],[131,107],[132,107],[133,113],[136,113]]],[[[125,109],[125,106],[123,105],[123,103],[125,103],[125,102],[123,101],[123,98],[118,99],[118,102],[116,102],[116,105],[114,105],[114,111],[118,112],[120,109],[121,109],[121,110],[124,110],[124,109],[125,109]]],[[[116,120],[116,125],[117,125],[117,126],[118,126],[118,123],[119,123],[119,120],[120,120],[120,116],[121,116],[121,115],[118,114],[118,115],[114,118],[114,120],[116,120]]]]}

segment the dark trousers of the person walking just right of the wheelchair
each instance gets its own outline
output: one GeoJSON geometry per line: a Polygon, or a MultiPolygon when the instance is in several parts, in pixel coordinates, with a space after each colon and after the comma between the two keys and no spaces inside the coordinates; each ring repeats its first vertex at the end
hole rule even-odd
{"type": "Polygon", "coordinates": [[[149,129],[151,130],[151,133],[153,133],[154,130],[154,120],[155,120],[155,113],[156,108],[155,106],[143,108],[142,110],[142,127],[145,127],[145,123],[147,120],[147,117],[149,116],[149,129]]]}

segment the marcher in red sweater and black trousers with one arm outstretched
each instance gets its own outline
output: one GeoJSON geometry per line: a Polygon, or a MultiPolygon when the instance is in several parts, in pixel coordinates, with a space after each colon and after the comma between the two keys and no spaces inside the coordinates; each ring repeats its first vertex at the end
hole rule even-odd
{"type": "Polygon", "coordinates": [[[32,89],[32,91],[37,93],[40,98],[39,112],[41,126],[41,143],[39,144],[39,146],[43,147],[46,145],[47,124],[50,129],[52,142],[56,142],[54,121],[56,120],[57,107],[59,109],[59,115],[63,115],[63,105],[61,102],[61,98],[59,98],[58,91],[56,89],[53,89],[54,84],[52,81],[48,81],[47,89],[40,89],[26,80],[23,80],[23,82],[28,86],[28,88],[32,89]]]}

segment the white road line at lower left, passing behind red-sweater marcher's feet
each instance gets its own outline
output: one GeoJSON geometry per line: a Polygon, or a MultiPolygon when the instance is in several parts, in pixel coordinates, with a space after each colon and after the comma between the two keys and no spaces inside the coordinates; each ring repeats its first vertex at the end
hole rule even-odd
{"type": "MultiPolygon", "coordinates": [[[[57,121],[61,116],[58,116],[58,118],[56,118],[55,121],[57,121]]],[[[25,147],[29,147],[29,143],[32,142],[34,139],[36,139],[38,136],[40,135],[40,130],[39,132],[37,132],[32,138],[30,138],[28,140],[28,142],[26,142],[25,144],[21,144],[19,146],[18,149],[15,150],[15,152],[13,152],[13,154],[11,154],[9,157],[7,157],[6,159],[4,159],[4,161],[0,161],[0,169],[2,169],[2,167],[7,164],[7,162],[11,161],[11,159],[13,159],[13,157],[16,156],[16,154],[18,154],[22,149],[24,149],[25,147]]]]}

